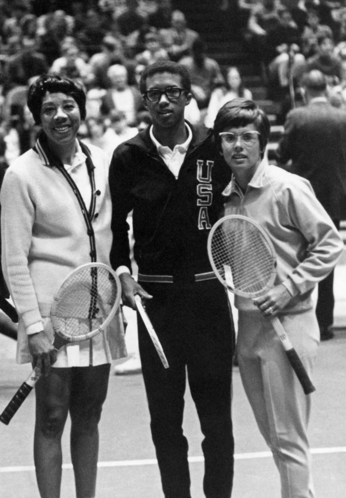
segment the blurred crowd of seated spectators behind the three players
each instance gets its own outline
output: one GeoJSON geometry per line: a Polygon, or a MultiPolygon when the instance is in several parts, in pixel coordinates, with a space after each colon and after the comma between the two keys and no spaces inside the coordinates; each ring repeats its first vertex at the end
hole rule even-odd
{"type": "MultiPolygon", "coordinates": [[[[299,81],[314,68],[328,75],[331,102],[345,105],[345,0],[217,0],[214,5],[223,29],[238,37],[249,61],[259,65],[267,98],[282,106],[282,120],[290,107],[304,105],[299,81]]],[[[179,61],[190,71],[193,99],[186,119],[191,124],[212,126],[224,102],[252,97],[239,69],[220,67],[208,56],[203,37],[171,0],[0,1],[1,169],[35,141],[26,96],[37,76],[49,72],[83,82],[87,120],[80,138],[111,155],[118,143],[150,124],[139,80],[145,66],[160,59],[179,61]]]]}

